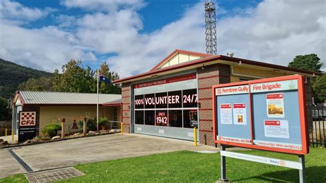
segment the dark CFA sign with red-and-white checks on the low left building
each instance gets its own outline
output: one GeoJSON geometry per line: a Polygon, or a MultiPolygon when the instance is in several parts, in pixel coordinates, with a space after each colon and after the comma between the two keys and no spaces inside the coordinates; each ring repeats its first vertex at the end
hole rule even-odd
{"type": "Polygon", "coordinates": [[[36,111],[19,112],[19,142],[33,139],[36,136],[36,111]]]}

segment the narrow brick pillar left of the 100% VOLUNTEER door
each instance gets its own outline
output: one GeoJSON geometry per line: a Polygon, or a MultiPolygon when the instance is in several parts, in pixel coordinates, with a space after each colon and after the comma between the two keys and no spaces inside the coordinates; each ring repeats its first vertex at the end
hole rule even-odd
{"type": "Polygon", "coordinates": [[[131,107],[131,85],[130,83],[122,84],[121,97],[122,97],[122,123],[124,133],[130,133],[130,108],[131,107]]]}

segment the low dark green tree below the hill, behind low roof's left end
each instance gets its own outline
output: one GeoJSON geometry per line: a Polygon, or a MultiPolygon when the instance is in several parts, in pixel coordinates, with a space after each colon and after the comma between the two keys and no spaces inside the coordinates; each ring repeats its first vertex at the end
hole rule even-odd
{"type": "Polygon", "coordinates": [[[40,78],[30,78],[18,86],[19,90],[25,91],[53,91],[52,77],[41,76],[40,78]]]}

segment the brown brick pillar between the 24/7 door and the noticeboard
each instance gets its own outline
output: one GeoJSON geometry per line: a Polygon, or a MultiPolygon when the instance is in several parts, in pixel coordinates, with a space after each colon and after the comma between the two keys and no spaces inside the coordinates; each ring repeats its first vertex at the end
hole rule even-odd
{"type": "Polygon", "coordinates": [[[199,109],[199,137],[201,144],[213,142],[212,85],[230,83],[230,65],[215,64],[197,68],[199,109]],[[205,140],[206,139],[206,140],[205,140]]]}

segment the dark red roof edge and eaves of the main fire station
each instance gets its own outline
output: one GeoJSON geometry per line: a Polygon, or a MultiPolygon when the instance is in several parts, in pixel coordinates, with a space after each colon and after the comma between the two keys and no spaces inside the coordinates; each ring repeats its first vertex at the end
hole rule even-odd
{"type": "MultiPolygon", "coordinates": [[[[169,58],[169,56],[168,56],[168,58],[169,58]]],[[[129,76],[127,78],[121,78],[119,80],[113,80],[112,83],[117,83],[117,84],[118,83],[127,83],[127,82],[131,82],[131,81],[135,81],[135,80],[141,80],[146,77],[148,78],[148,77],[158,76],[158,74],[160,74],[160,75],[164,75],[165,73],[170,74],[172,70],[175,70],[175,72],[180,72],[184,69],[194,68],[194,66],[199,67],[200,65],[210,65],[210,64],[215,64],[215,63],[224,63],[224,64],[230,64],[230,65],[231,64],[235,65],[237,63],[241,63],[242,65],[254,65],[254,66],[265,67],[265,68],[269,68],[269,69],[279,69],[279,70],[290,72],[291,74],[303,74],[305,76],[314,76],[314,75],[320,76],[321,75],[319,72],[311,72],[311,71],[307,71],[304,69],[296,69],[296,68],[286,67],[286,66],[282,66],[282,65],[263,63],[263,62],[259,62],[259,61],[251,61],[251,60],[247,60],[247,59],[243,59],[243,58],[236,58],[236,57],[230,57],[230,56],[224,56],[224,55],[213,55],[213,56],[206,56],[203,58],[197,58],[193,61],[188,61],[185,63],[180,63],[177,65],[172,65],[169,67],[163,67],[163,68],[159,68],[159,69],[155,69],[155,67],[157,67],[157,65],[156,65],[149,72],[144,72],[142,74],[137,74],[135,76],[129,76]]],[[[160,63],[158,65],[160,65],[160,63]]],[[[162,65],[162,63],[161,63],[161,65],[162,65]]]]}

